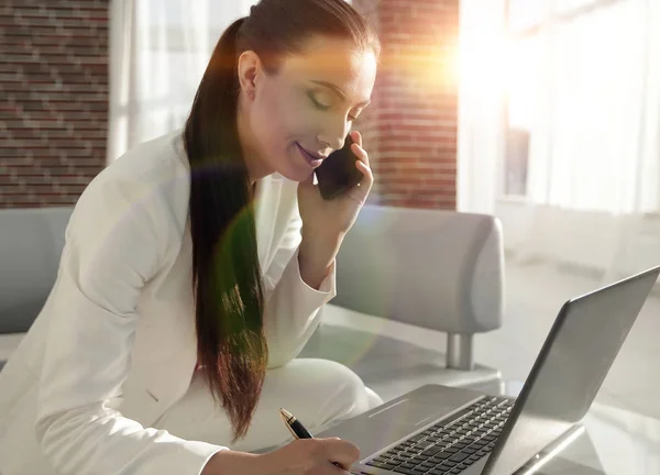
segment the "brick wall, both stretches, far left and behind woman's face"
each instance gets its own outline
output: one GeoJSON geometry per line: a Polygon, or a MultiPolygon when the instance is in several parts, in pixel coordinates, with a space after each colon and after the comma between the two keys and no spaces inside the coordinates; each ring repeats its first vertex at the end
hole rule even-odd
{"type": "MultiPolygon", "coordinates": [[[[353,0],[383,64],[355,124],[372,201],[455,208],[459,0],[353,0]]],[[[0,208],[75,203],[105,166],[109,0],[6,0],[0,9],[0,208]]]]}

